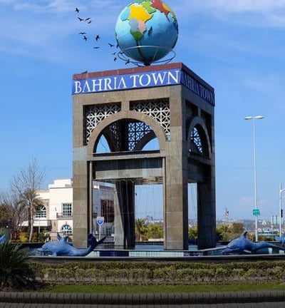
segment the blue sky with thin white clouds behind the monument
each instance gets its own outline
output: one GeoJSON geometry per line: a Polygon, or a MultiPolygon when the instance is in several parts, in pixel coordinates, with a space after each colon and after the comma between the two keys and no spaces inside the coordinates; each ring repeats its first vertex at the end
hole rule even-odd
{"type": "MultiPolygon", "coordinates": [[[[229,218],[254,218],[253,121],[244,117],[264,116],[255,121],[257,195],[260,218],[270,220],[279,215],[280,183],[285,188],[285,0],[165,2],[179,26],[172,62],[184,63],[215,92],[217,218],[226,208],[229,218]]],[[[108,43],[129,3],[0,0],[0,190],[33,158],[46,169],[44,188],[72,178],[72,77],[126,67],[113,61],[108,43]],[[86,30],[100,35],[100,48],[78,34],[86,30]]],[[[159,190],[138,197],[145,213],[159,190]]]]}

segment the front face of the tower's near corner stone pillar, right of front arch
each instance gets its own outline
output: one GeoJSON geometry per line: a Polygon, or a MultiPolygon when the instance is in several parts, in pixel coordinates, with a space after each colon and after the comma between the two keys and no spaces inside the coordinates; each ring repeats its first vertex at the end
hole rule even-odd
{"type": "Polygon", "coordinates": [[[187,142],[180,92],[172,91],[165,158],[165,249],[188,249],[187,142]]]}

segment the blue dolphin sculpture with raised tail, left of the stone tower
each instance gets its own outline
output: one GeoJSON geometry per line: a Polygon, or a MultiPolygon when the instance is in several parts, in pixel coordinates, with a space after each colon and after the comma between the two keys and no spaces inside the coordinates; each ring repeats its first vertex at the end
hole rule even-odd
{"type": "Polygon", "coordinates": [[[88,247],[86,249],[78,249],[68,244],[68,235],[65,235],[56,242],[46,242],[41,248],[36,250],[37,255],[53,255],[53,256],[73,256],[84,257],[93,251],[95,247],[102,244],[106,237],[97,241],[92,233],[88,235],[88,247]]]}

